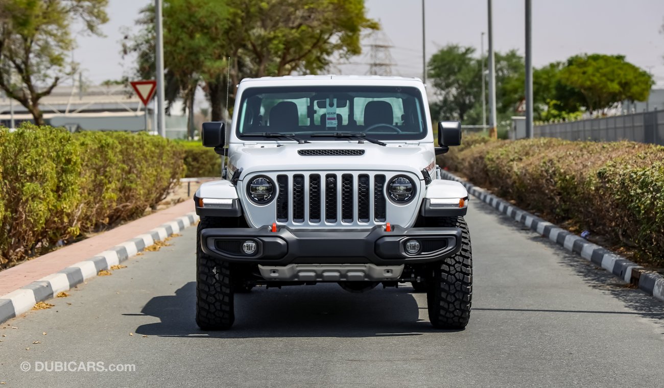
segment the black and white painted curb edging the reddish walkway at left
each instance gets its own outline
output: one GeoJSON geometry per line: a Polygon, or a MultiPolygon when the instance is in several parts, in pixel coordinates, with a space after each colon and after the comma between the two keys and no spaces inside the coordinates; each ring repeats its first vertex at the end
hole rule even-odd
{"type": "Polygon", "coordinates": [[[50,299],[60,291],[67,291],[87,279],[97,276],[99,271],[110,269],[113,265],[122,263],[129,257],[143,251],[145,247],[153,245],[155,241],[163,240],[173,233],[196,224],[198,221],[199,216],[195,212],[187,213],[186,216],[155,227],[155,229],[145,234],[137,235],[135,238],[116,245],[108,251],[103,251],[90,259],[80,261],[58,273],[48,275],[39,279],[39,281],[21,287],[21,289],[0,296],[0,323],[31,310],[37,302],[50,299]]]}

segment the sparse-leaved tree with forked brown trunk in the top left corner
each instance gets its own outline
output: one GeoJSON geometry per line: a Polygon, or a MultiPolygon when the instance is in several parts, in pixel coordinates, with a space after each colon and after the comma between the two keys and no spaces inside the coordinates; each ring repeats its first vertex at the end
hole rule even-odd
{"type": "Polygon", "coordinates": [[[35,124],[44,124],[39,100],[76,71],[76,64],[66,60],[75,46],[70,26],[80,21],[87,32],[101,35],[107,3],[0,0],[0,88],[30,111],[35,124]]]}

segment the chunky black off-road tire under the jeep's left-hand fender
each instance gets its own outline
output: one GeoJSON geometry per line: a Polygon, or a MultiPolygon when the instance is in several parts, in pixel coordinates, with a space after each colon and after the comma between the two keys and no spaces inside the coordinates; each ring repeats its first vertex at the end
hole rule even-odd
{"type": "Polygon", "coordinates": [[[230,263],[217,261],[201,249],[201,230],[222,227],[219,220],[201,217],[196,245],[196,323],[201,330],[228,330],[235,320],[230,263]]]}

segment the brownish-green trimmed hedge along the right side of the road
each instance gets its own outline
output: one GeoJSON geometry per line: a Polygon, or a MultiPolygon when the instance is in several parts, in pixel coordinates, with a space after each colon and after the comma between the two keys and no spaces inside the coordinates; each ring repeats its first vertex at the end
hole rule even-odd
{"type": "Polygon", "coordinates": [[[464,139],[440,164],[517,206],[664,264],[664,147],[627,141],[464,139]]]}

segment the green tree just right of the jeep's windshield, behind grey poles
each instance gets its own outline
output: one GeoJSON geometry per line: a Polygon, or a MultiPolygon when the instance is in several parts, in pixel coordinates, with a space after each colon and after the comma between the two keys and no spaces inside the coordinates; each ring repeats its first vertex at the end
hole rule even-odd
{"type": "Polygon", "coordinates": [[[450,44],[430,58],[428,78],[438,97],[431,104],[434,117],[464,121],[477,101],[481,101],[481,66],[473,54],[473,47],[450,44]]]}

